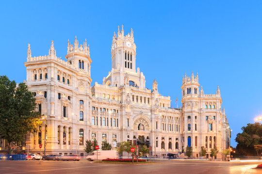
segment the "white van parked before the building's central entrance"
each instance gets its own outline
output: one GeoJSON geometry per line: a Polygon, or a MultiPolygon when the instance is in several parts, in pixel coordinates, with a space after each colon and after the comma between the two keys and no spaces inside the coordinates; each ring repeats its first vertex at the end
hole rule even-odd
{"type": "Polygon", "coordinates": [[[117,150],[98,150],[90,153],[86,160],[118,159],[117,150]]]}

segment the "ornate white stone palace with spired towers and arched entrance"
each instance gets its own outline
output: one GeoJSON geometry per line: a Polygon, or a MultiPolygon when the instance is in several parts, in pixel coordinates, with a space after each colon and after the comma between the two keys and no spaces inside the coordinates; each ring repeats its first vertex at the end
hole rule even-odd
{"type": "MultiPolygon", "coordinates": [[[[38,110],[46,118],[38,132],[28,133],[26,145],[39,152],[45,143],[46,153],[86,155],[85,141],[96,139],[99,146],[107,141],[152,146],[152,155],[181,153],[187,145],[199,157],[201,146],[216,146],[217,158],[229,148],[230,131],[219,87],[216,94],[199,89],[198,74],[182,78],[182,108],[170,108],[170,97],[162,96],[154,80],[152,90],[136,68],[136,45],[133,31],[124,35],[122,26],[114,32],[112,70],[91,87],[91,63],[86,41],[67,44],[66,61],[56,56],[53,41],[48,56],[32,57],[28,45],[26,84],[38,110]]],[[[153,72],[152,72],[153,73],[153,72]]],[[[170,89],[172,90],[172,89],[170,89]]],[[[2,146],[4,148],[4,145],[2,146]]]]}

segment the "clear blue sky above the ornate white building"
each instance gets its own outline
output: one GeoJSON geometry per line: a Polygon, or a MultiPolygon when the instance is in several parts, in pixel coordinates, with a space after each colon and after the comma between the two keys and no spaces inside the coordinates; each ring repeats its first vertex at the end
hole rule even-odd
{"type": "MultiPolygon", "coordinates": [[[[262,114],[262,1],[3,1],[0,5],[0,75],[26,79],[27,43],[32,55],[47,55],[50,41],[65,60],[67,39],[90,45],[91,77],[102,83],[111,70],[117,26],[134,31],[136,65],[154,79],[173,106],[181,100],[182,75],[198,72],[206,94],[217,85],[232,129],[262,114]]],[[[179,102],[181,106],[181,102],[179,102]]]]}

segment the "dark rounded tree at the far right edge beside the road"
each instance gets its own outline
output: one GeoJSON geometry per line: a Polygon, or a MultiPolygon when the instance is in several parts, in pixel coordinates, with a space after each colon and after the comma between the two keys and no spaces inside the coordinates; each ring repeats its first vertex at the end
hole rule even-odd
{"type": "Polygon", "coordinates": [[[242,127],[242,133],[238,133],[236,136],[236,152],[238,155],[255,156],[255,145],[262,145],[262,124],[248,123],[246,127],[242,127]]]}

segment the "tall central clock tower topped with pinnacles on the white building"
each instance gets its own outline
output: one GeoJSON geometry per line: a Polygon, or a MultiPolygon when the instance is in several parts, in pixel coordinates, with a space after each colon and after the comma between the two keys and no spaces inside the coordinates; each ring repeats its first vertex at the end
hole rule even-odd
{"type": "Polygon", "coordinates": [[[124,27],[117,34],[114,32],[112,47],[112,70],[103,78],[103,84],[108,86],[124,85],[125,76],[129,76],[130,85],[145,88],[145,76],[140,69],[135,67],[136,45],[134,43],[133,30],[124,35],[124,27]]]}

